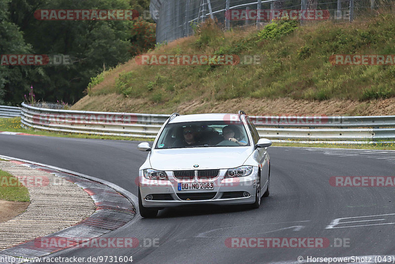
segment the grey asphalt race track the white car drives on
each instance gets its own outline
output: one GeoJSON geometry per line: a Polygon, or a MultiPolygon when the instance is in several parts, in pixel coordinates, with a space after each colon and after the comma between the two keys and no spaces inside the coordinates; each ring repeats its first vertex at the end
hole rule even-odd
{"type": "MultiPolygon", "coordinates": [[[[106,179],[137,195],[135,178],[147,155],[137,150],[138,143],[0,134],[0,154],[106,179]]],[[[80,248],[54,256],[133,256],[134,263],[214,264],[395,254],[395,187],[329,184],[331,176],[395,176],[395,151],[268,150],[271,194],[257,210],[240,206],[165,209],[156,219],[137,217],[108,235],[137,237],[147,244],[157,239],[157,247],[80,248]],[[347,219],[326,228],[340,218],[347,219]],[[330,245],[321,249],[228,248],[228,237],[322,237],[330,245]],[[338,247],[339,241],[346,247],[338,247]]]]}

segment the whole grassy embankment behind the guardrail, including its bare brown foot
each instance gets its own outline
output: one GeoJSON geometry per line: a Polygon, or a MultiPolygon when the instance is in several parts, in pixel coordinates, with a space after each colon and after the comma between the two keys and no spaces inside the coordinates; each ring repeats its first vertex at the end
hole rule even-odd
{"type": "Polygon", "coordinates": [[[333,66],[333,54],[395,54],[395,16],[353,24],[299,26],[275,22],[261,30],[199,34],[149,54],[260,55],[260,65],[142,66],[129,62],[92,79],[72,109],[183,114],[387,115],[395,110],[395,66],[333,66]]]}

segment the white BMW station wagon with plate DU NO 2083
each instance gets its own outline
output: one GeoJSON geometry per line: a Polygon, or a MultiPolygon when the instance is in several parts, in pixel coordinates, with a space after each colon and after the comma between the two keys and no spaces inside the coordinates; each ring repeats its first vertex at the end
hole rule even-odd
{"type": "Polygon", "coordinates": [[[272,142],[238,114],[174,113],[163,124],[139,169],[139,211],[156,217],[165,207],[188,204],[260,206],[269,196],[272,142]]]}

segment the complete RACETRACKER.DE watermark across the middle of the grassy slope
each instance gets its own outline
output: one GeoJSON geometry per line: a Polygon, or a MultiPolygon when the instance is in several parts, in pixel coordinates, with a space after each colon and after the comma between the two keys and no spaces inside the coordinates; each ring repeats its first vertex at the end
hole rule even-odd
{"type": "Polygon", "coordinates": [[[138,65],[260,65],[261,55],[153,54],[137,55],[138,65]]]}

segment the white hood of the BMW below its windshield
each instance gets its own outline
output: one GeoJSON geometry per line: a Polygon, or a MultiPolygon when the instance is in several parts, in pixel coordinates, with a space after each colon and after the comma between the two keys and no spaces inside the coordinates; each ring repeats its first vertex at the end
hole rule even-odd
{"type": "Polygon", "coordinates": [[[150,163],[152,169],[162,171],[229,169],[242,166],[250,154],[249,146],[153,149],[150,163]]]}

